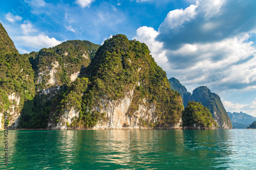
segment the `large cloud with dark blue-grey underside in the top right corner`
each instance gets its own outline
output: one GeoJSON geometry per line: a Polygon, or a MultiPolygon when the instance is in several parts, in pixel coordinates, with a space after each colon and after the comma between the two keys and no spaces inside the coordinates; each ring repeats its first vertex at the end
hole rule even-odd
{"type": "Polygon", "coordinates": [[[170,11],[157,40],[177,50],[183,44],[218,42],[255,30],[256,2],[197,1],[185,10],[170,11]]]}

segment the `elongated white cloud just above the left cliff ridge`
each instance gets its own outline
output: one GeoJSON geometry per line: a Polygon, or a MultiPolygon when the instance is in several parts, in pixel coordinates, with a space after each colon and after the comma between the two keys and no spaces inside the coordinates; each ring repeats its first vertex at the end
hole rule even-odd
{"type": "Polygon", "coordinates": [[[47,35],[39,34],[37,36],[18,36],[15,38],[20,43],[26,44],[26,46],[40,50],[41,48],[48,48],[61,43],[61,41],[55,38],[49,38],[47,35]]]}

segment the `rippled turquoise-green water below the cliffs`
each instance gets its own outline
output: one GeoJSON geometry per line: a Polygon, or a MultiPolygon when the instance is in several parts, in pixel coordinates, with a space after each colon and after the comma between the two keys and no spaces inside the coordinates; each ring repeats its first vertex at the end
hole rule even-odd
{"type": "Polygon", "coordinates": [[[256,130],[9,131],[0,169],[256,169],[256,130]]]}

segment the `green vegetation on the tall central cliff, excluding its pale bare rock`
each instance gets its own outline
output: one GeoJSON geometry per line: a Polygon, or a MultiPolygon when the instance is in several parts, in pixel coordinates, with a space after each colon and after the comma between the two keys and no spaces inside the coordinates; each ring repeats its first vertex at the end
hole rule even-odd
{"type": "Polygon", "coordinates": [[[180,94],[169,88],[165,72],[156,64],[144,43],[129,41],[124,35],[113,36],[99,48],[86,75],[89,86],[82,95],[79,118],[72,126],[95,126],[104,116],[93,110],[99,101],[123,99],[129,90],[134,90],[129,116],[135,116],[139,104],[145,103],[143,99],[148,106],[156,105],[158,122],[154,125],[143,122],[143,126],[169,127],[179,122],[183,110],[180,94]]]}

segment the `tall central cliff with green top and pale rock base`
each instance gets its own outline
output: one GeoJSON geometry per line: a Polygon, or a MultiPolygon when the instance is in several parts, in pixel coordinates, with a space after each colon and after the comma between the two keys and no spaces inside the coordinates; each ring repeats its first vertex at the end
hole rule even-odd
{"type": "Polygon", "coordinates": [[[85,72],[87,89],[70,89],[62,96],[48,129],[181,128],[180,94],[170,89],[144,43],[113,36],[85,72]],[[70,102],[74,91],[80,97],[70,102]],[[65,105],[69,111],[61,109],[65,105]]]}

